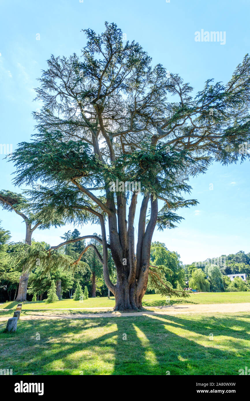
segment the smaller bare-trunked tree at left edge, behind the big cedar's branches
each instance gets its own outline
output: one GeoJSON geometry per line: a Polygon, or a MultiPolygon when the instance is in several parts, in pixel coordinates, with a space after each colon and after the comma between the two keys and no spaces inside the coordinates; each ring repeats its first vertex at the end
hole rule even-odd
{"type": "MultiPolygon", "coordinates": [[[[34,215],[31,211],[31,207],[28,204],[28,200],[22,195],[8,190],[0,191],[0,204],[3,209],[8,211],[14,211],[18,214],[25,222],[26,235],[25,243],[31,245],[32,234],[39,227],[39,229],[49,228],[51,225],[57,227],[57,225],[63,224],[62,221],[55,217],[55,213],[45,213],[39,217],[34,215]]],[[[18,294],[16,301],[26,301],[27,285],[28,285],[29,273],[24,265],[22,267],[22,274],[19,279],[18,294]]]]}

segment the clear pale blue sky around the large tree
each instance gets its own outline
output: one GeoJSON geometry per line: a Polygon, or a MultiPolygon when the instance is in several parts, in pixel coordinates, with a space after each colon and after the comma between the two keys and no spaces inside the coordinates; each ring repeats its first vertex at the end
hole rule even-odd
{"type": "MultiPolygon", "coordinates": [[[[101,33],[104,22],[116,22],[129,41],[135,40],[152,57],[201,90],[208,78],[228,81],[249,51],[250,4],[210,0],[43,0],[0,1],[0,143],[29,140],[33,134],[32,111],[36,79],[47,68],[51,54],[80,54],[85,45],[81,29],[101,33]],[[196,42],[195,32],[226,32],[226,44],[196,42]],[[40,34],[40,40],[37,40],[40,34]]],[[[181,211],[185,217],[175,230],[155,231],[153,240],[165,242],[181,255],[183,263],[207,257],[250,251],[249,244],[249,167],[250,163],[224,167],[219,163],[207,174],[190,180],[191,198],[197,207],[181,211]],[[213,184],[213,190],[209,189],[213,184]]],[[[0,155],[0,188],[19,192],[12,183],[13,166],[0,155]]],[[[24,189],[24,188],[23,188],[24,189]]],[[[2,226],[13,241],[24,239],[24,223],[14,213],[0,211],[2,226]]],[[[37,241],[51,245],[73,227],[35,231],[37,241]]],[[[82,235],[100,233],[98,226],[79,228],[82,235]]]]}

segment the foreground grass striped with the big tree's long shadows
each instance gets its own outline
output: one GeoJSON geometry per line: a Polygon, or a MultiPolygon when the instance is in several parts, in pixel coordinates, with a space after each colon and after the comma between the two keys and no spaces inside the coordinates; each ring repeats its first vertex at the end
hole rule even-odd
{"type": "Polygon", "coordinates": [[[0,360],[13,375],[238,375],[250,366],[250,318],[241,312],[19,321],[15,333],[0,334],[0,360]]]}

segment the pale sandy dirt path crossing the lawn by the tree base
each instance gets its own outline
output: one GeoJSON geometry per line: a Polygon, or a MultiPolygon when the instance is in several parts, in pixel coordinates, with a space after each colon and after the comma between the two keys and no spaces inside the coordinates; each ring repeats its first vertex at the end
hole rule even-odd
{"type": "MultiPolygon", "coordinates": [[[[33,315],[22,315],[21,320],[40,320],[40,319],[89,319],[89,318],[115,318],[120,316],[148,316],[148,315],[176,315],[176,314],[189,314],[189,313],[236,313],[236,312],[250,312],[250,302],[242,304],[209,304],[209,305],[187,305],[182,306],[166,306],[159,308],[157,311],[144,311],[144,312],[102,312],[102,313],[82,313],[75,315],[42,315],[39,312],[33,315]]],[[[0,316],[0,321],[8,320],[7,316],[0,316]]]]}

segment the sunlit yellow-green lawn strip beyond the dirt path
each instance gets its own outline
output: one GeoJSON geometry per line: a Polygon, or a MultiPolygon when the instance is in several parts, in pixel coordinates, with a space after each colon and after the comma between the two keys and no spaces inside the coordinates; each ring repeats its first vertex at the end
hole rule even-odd
{"type": "MultiPolygon", "coordinates": [[[[208,292],[202,294],[191,294],[189,298],[162,298],[158,294],[145,295],[143,298],[143,306],[164,306],[176,304],[230,304],[250,302],[250,292],[208,292]]],[[[15,309],[18,302],[6,302],[0,305],[0,309],[15,309]]],[[[85,301],[74,301],[67,299],[55,302],[53,304],[46,304],[45,302],[24,302],[22,311],[24,310],[45,310],[45,309],[58,309],[58,308],[100,308],[110,307],[115,305],[114,297],[108,299],[103,298],[89,298],[85,301]]]]}

